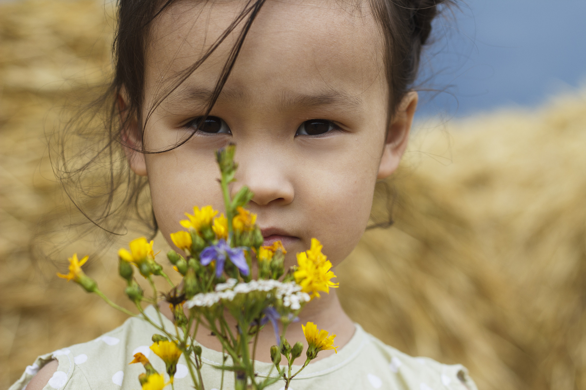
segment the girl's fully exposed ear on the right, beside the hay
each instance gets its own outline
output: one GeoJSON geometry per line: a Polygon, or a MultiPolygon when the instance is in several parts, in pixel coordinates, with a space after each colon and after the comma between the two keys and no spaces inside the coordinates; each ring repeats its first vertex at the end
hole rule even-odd
{"type": "Polygon", "coordinates": [[[380,158],[377,179],[387,178],[397,169],[407,148],[418,98],[417,92],[407,92],[397,106],[397,111],[389,125],[387,139],[384,141],[383,156],[380,158]]]}

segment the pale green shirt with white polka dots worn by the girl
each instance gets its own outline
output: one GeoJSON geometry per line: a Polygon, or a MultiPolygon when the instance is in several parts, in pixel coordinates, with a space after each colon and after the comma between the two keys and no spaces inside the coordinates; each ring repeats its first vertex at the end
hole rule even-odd
{"type": "MultiPolygon", "coordinates": [[[[155,323],[159,322],[152,306],[145,309],[145,313],[155,323]]],[[[166,329],[173,329],[171,321],[164,317],[163,325],[166,329]]],[[[59,361],[59,367],[45,386],[46,390],[139,390],[138,375],[144,372],[144,368],[141,364],[128,364],[135,353],[142,352],[157,371],[165,372],[163,361],[149,349],[154,333],[158,332],[149,323],[130,318],[96,340],[39,356],[9,390],[25,390],[36,372],[52,359],[59,361]]],[[[222,353],[206,347],[202,350],[205,388],[220,389],[222,371],[216,367],[222,363],[222,353]]],[[[176,390],[193,389],[185,364],[182,356],[175,374],[176,390]]],[[[271,371],[271,367],[269,363],[255,363],[260,377],[274,375],[276,370],[273,367],[271,371]]],[[[279,390],[283,386],[284,381],[278,381],[267,389],[279,390]]],[[[223,388],[234,388],[233,373],[225,372],[223,388]]],[[[339,348],[337,354],[309,364],[292,380],[289,389],[476,390],[476,385],[462,365],[445,365],[429,358],[410,357],[356,325],[349,343],[339,348]]]]}

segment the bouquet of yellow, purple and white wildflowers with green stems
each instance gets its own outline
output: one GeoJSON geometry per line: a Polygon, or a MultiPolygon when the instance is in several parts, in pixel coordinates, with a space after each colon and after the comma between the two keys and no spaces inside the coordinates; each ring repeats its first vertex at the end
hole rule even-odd
{"type": "MultiPolygon", "coordinates": [[[[318,240],[312,239],[311,248],[297,254],[298,264],[285,271],[286,253],[280,241],[263,246],[263,235],[255,224],[256,216],[244,208],[253,193],[243,187],[230,197],[228,186],[233,182],[237,164],[234,162],[235,146],[229,145],[216,152],[222,178],[222,194],[226,215],[213,210],[212,206],[193,208],[193,215],[180,221],[188,229],[171,234],[171,240],[182,253],[169,251],[167,257],[175,271],[182,275],[175,285],[155,261],[153,241],[144,237],[130,242],[130,250],[120,249],[119,272],[127,282],[125,293],[134,302],[138,314],[111,302],[98,289],[93,279],[81,270],[87,256],[79,260],[74,254],[69,260],[69,274],[59,277],[73,280],[86,291],[100,295],[109,305],[130,316],[138,316],[151,323],[158,333],[153,334],[151,350],[165,362],[166,374],[157,372],[142,353],[134,355],[131,363],[141,363],[145,372],[138,380],[143,390],[161,390],[173,387],[173,376],[180,356],[185,356],[193,387],[204,390],[201,375],[202,347],[195,340],[200,326],[208,329],[222,344],[224,365],[220,368],[233,372],[236,390],[263,389],[277,381],[284,381],[287,389],[291,379],[314,360],[319,351],[335,349],[333,339],[326,330],[318,330],[314,323],[302,325],[309,347],[305,351],[305,363],[301,370],[292,372],[294,361],[303,353],[303,345],[294,346],[285,337],[287,327],[297,320],[304,305],[319,292],[337,287],[331,281],[335,277],[332,264],[322,254],[318,240]],[[148,280],[151,296],[135,280],[135,268],[148,280]],[[158,294],[153,278],[163,277],[170,285],[168,292],[158,294]],[[174,329],[165,329],[158,301],[169,303],[173,314],[174,329]],[[159,316],[159,324],[145,315],[142,302],[151,303],[159,316]],[[232,316],[237,326],[231,329],[227,316],[232,316]],[[282,335],[278,322],[282,323],[282,335]],[[275,345],[271,347],[271,360],[278,377],[259,379],[254,371],[254,359],[258,333],[268,323],[274,327],[275,345]],[[286,364],[281,365],[282,357],[286,364]]],[[[222,376],[223,378],[223,376],[222,376]]],[[[223,381],[222,381],[223,382],[223,381]]]]}

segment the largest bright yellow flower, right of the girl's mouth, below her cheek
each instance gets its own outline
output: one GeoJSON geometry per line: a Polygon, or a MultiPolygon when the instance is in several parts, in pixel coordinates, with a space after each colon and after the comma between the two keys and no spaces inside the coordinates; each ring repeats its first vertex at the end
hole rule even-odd
{"type": "Polygon", "coordinates": [[[312,299],[319,298],[318,291],[329,293],[330,287],[335,288],[339,285],[331,281],[336,275],[331,271],[332,263],[322,253],[322,247],[318,240],[311,239],[311,249],[297,254],[298,267],[293,273],[295,282],[312,299]]]}

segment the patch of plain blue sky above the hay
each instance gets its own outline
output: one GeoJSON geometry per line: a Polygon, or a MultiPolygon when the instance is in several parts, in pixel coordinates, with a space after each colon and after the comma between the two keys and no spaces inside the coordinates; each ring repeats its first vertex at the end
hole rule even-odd
{"type": "Polygon", "coordinates": [[[435,23],[420,77],[450,94],[424,93],[419,115],[535,106],[586,84],[586,0],[469,0],[455,18],[435,23]]]}

